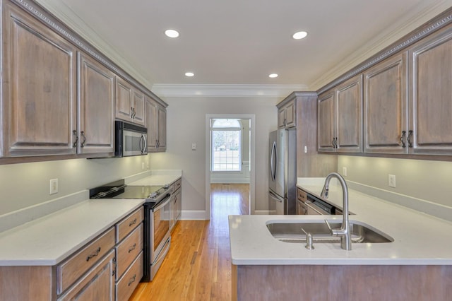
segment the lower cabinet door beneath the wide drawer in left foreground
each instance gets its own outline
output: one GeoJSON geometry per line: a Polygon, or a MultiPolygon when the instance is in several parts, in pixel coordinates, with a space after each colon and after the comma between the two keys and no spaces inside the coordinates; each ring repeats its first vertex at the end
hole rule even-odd
{"type": "Polygon", "coordinates": [[[114,251],[95,264],[60,300],[113,300],[114,251]]]}

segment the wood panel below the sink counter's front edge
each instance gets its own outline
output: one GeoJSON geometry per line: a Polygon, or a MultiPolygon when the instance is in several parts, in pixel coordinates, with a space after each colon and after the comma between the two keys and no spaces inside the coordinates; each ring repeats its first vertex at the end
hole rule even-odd
{"type": "Polygon", "coordinates": [[[452,295],[452,266],[233,265],[232,272],[233,300],[450,300],[452,295]]]}

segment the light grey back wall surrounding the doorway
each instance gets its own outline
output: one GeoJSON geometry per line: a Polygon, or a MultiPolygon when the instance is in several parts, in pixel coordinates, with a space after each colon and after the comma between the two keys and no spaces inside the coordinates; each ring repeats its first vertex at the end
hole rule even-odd
{"type": "Polygon", "coordinates": [[[256,211],[268,210],[268,133],[277,127],[278,98],[165,98],[167,152],[149,155],[155,169],[182,169],[182,209],[206,210],[206,114],[255,114],[256,211]],[[191,143],[196,143],[196,151],[191,143]]]}

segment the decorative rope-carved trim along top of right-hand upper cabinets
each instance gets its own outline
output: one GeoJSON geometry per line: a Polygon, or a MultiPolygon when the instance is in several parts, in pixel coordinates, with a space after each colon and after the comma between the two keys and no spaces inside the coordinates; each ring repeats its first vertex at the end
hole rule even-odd
{"type": "Polygon", "coordinates": [[[343,76],[340,76],[331,83],[328,83],[327,85],[323,86],[322,88],[317,90],[317,93],[320,95],[321,93],[326,92],[327,90],[335,87],[336,85],[343,83],[344,81],[347,81],[347,79],[356,76],[365,69],[374,66],[380,61],[383,61],[384,59],[390,57],[391,55],[399,52],[400,50],[405,49],[406,47],[412,44],[415,44],[415,42],[421,40],[427,35],[436,32],[436,30],[439,30],[440,28],[443,28],[444,26],[450,23],[452,23],[452,8],[449,8],[446,12],[441,13],[440,16],[430,20],[428,23],[422,25],[420,28],[413,30],[408,35],[405,35],[405,37],[402,37],[400,40],[394,42],[385,49],[381,50],[381,52],[375,54],[370,59],[367,59],[367,61],[364,61],[364,63],[359,64],[354,69],[345,73],[343,76]]]}

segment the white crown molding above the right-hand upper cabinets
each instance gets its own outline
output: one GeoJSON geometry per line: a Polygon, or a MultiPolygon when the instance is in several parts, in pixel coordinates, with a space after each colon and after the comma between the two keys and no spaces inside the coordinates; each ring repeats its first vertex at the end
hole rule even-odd
{"type": "Polygon", "coordinates": [[[423,28],[426,23],[432,19],[436,19],[449,8],[451,8],[450,1],[439,1],[439,3],[434,6],[424,7],[422,11],[419,11],[415,16],[412,16],[408,20],[400,20],[400,22],[394,23],[391,28],[388,28],[380,35],[369,40],[363,47],[357,49],[357,51],[353,52],[348,57],[345,57],[339,64],[324,73],[323,76],[317,78],[313,83],[310,83],[309,87],[311,87],[312,90],[318,90],[319,93],[322,93],[339,83],[339,81],[345,81],[359,73],[359,71],[367,69],[377,62],[386,59],[389,55],[399,51],[401,47],[407,47],[408,45],[417,42],[420,38],[448,23],[449,20],[436,20],[439,24],[430,24],[430,28],[423,28]],[[416,30],[419,32],[416,33],[416,30]],[[412,36],[408,37],[408,35],[412,36]],[[367,62],[366,66],[363,66],[363,61],[367,62]],[[350,66],[355,67],[350,70],[350,66]],[[359,70],[357,70],[358,68],[359,70]]]}

